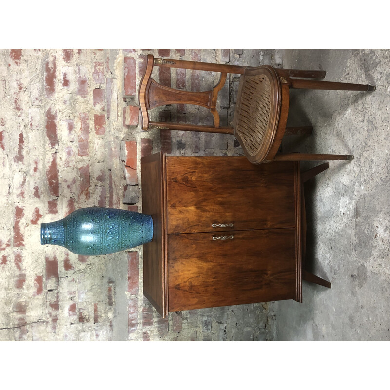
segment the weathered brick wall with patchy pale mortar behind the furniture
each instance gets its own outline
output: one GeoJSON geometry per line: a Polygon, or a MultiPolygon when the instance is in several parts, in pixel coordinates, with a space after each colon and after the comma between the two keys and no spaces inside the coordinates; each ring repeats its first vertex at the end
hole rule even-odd
{"type": "MultiPolygon", "coordinates": [[[[232,136],[143,132],[137,91],[146,55],[275,64],[272,50],[0,50],[0,340],[263,340],[266,305],[170,313],[142,294],[142,247],[78,256],[40,245],[40,223],[75,209],[142,211],[140,158],[242,155],[232,136]]],[[[202,90],[215,75],[159,69],[154,77],[202,90]]],[[[232,119],[238,78],[218,104],[232,119]]],[[[199,108],[156,109],[158,120],[211,123],[199,108]]]]}

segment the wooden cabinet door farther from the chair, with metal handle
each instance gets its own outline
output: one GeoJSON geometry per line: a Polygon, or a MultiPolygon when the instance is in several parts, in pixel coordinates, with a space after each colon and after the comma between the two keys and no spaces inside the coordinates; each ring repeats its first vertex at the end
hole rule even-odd
{"type": "Polygon", "coordinates": [[[296,274],[295,229],[168,236],[170,312],[296,299],[296,274]]]}

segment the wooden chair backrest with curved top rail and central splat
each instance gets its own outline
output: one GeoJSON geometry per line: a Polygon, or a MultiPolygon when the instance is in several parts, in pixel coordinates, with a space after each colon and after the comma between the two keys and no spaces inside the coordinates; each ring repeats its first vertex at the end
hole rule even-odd
{"type": "Polygon", "coordinates": [[[233,127],[221,127],[219,114],[216,110],[218,92],[225,84],[227,74],[244,74],[245,66],[224,65],[206,62],[182,61],[174,59],[158,59],[148,54],[145,73],[141,79],[139,87],[139,105],[142,116],[142,130],[150,128],[172,129],[172,130],[192,130],[212,133],[234,134],[233,127]],[[153,67],[181,68],[190,70],[202,70],[209,72],[219,72],[220,79],[215,87],[209,91],[193,92],[183,91],[161,85],[151,78],[153,67]],[[214,117],[213,126],[198,124],[177,124],[172,122],[151,122],[148,111],[167,104],[193,104],[206,107],[214,117]]]}

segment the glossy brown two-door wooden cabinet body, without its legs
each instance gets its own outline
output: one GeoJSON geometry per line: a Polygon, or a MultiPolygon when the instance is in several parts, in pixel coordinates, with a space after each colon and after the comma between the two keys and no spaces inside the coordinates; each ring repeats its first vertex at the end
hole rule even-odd
{"type": "Polygon", "coordinates": [[[168,312],[302,299],[299,162],[141,159],[144,295],[168,312]]]}

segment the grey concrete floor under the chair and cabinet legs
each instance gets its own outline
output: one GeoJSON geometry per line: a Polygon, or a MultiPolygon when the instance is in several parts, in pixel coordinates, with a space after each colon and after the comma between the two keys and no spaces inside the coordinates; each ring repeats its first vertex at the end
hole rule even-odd
{"type": "MultiPolygon", "coordinates": [[[[293,90],[290,125],[313,134],[284,151],[353,154],[305,188],[307,262],[331,289],[303,282],[303,303],[270,304],[271,339],[390,340],[390,51],[280,50],[284,68],[323,69],[325,80],[375,92],[293,90]]],[[[302,168],[318,165],[302,164],[302,168]]]]}

